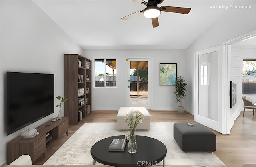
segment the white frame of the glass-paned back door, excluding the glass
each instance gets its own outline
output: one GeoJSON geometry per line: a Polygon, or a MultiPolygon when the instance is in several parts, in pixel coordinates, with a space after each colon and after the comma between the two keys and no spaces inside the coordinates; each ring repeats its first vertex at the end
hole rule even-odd
{"type": "Polygon", "coordinates": [[[126,106],[127,107],[146,107],[151,109],[151,75],[152,75],[152,58],[127,58],[127,77],[126,77],[126,106]],[[131,61],[148,61],[148,104],[130,104],[130,62],[131,61]]]}

